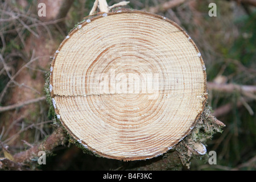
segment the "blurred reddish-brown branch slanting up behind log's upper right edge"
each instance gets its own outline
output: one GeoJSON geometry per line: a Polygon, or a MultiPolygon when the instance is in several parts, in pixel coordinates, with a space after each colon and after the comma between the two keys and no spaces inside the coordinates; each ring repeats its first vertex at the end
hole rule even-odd
{"type": "Polygon", "coordinates": [[[150,13],[159,13],[159,11],[164,12],[164,11],[167,11],[168,9],[181,5],[185,1],[188,1],[188,0],[171,0],[163,3],[162,5],[149,7],[148,9],[143,9],[143,10],[149,11],[150,13]]]}

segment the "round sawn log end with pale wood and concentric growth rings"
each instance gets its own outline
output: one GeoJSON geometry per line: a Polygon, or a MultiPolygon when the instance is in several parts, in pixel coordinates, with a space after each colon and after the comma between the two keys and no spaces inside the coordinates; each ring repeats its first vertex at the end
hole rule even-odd
{"type": "Polygon", "coordinates": [[[85,19],[53,57],[49,89],[65,129],[106,158],[167,152],[207,100],[199,49],[176,23],[122,10],[85,19]]]}

